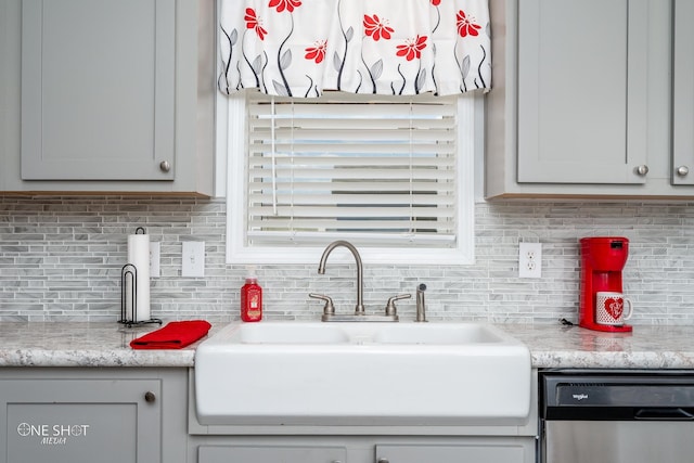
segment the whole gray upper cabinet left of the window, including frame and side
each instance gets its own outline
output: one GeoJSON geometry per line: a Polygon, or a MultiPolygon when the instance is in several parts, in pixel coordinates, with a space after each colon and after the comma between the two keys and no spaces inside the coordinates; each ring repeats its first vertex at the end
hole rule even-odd
{"type": "Polygon", "coordinates": [[[4,8],[0,191],[213,194],[214,0],[4,8]]]}

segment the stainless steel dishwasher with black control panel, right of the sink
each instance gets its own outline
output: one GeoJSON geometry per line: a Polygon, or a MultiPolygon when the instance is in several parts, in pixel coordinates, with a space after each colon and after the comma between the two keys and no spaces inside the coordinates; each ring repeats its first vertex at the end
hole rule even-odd
{"type": "Polygon", "coordinates": [[[542,463],[694,461],[694,371],[540,373],[542,463]]]}

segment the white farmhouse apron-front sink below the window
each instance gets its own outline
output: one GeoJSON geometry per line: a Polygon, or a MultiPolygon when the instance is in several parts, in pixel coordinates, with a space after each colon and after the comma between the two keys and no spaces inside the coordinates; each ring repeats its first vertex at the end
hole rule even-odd
{"type": "Polygon", "coordinates": [[[206,425],[453,425],[523,419],[530,353],[477,323],[230,324],[195,353],[206,425]]]}

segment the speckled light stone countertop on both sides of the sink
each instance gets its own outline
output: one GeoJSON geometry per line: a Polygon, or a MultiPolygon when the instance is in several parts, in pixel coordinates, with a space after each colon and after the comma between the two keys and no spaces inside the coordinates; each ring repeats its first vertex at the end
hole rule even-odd
{"type": "MultiPolygon", "coordinates": [[[[694,326],[644,325],[634,326],[633,333],[558,322],[496,326],[528,346],[536,368],[694,369],[694,326]]],[[[220,327],[214,326],[209,335],[220,327]]],[[[3,322],[0,366],[193,366],[195,347],[206,337],[183,349],[130,348],[130,340],[156,329],[115,322],[3,322]]]]}

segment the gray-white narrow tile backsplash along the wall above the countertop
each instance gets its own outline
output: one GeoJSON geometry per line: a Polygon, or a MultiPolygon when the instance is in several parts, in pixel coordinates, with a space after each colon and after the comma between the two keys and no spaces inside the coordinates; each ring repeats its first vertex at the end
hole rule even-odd
{"type": "MultiPolygon", "coordinates": [[[[239,320],[246,270],[224,263],[223,200],[157,196],[0,196],[0,322],[113,321],[120,313],[120,268],[127,235],[144,227],[160,242],[159,278],[152,279],[152,316],[168,320],[239,320]],[[181,276],[181,243],[204,241],[205,278],[181,276]]],[[[368,311],[388,297],[427,285],[429,320],[556,323],[576,321],[578,240],[630,240],[625,292],[633,324],[694,324],[694,203],[479,203],[473,266],[382,266],[364,262],[368,311]],[[542,243],[542,278],[518,278],[518,243],[542,243]]],[[[333,297],[355,305],[355,269],[332,265],[262,266],[265,318],[318,320],[333,297]]],[[[414,319],[414,299],[398,304],[414,319]]]]}

